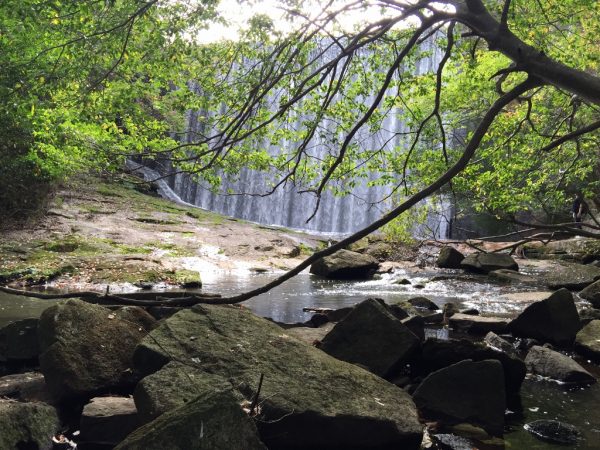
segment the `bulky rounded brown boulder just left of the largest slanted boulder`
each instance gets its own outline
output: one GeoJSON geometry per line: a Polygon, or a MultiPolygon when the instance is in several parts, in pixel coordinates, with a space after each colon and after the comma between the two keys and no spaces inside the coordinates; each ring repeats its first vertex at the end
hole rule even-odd
{"type": "Polygon", "coordinates": [[[143,311],[111,311],[74,299],[46,309],[38,332],[40,370],[50,391],[67,398],[132,386],[139,379],[133,351],[147,333],[144,326],[154,322],[143,311]]]}

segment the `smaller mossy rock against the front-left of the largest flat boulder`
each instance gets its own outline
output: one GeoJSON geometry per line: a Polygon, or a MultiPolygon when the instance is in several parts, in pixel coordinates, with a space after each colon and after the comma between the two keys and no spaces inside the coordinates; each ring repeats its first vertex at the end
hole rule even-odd
{"type": "Polygon", "coordinates": [[[230,389],[231,384],[224,377],[170,362],[142,379],[135,387],[133,398],[141,420],[146,423],[198,395],[230,389]]]}

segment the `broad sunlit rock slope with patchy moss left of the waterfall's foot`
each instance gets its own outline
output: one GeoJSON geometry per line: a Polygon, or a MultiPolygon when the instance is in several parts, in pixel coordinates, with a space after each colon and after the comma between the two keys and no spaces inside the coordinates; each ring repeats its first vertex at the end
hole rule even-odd
{"type": "Polygon", "coordinates": [[[130,178],[94,177],[54,195],[34,224],[0,235],[0,280],[111,289],[193,284],[206,271],[275,271],[298,264],[319,238],[180,206],[130,178]]]}

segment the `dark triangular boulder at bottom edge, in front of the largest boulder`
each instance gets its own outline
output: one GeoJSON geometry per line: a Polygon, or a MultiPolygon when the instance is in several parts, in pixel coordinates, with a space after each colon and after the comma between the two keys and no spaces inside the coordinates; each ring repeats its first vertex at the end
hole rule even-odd
{"type": "Polygon", "coordinates": [[[138,428],[115,450],[266,450],[229,391],[205,393],[138,428]]]}

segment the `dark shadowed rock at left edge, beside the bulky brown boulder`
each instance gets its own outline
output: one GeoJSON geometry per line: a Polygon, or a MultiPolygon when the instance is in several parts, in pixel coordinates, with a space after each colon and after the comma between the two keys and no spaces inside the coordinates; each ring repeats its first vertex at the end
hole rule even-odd
{"type": "Polygon", "coordinates": [[[27,361],[37,359],[40,350],[37,336],[38,319],[9,323],[0,330],[0,359],[27,361]]]}

